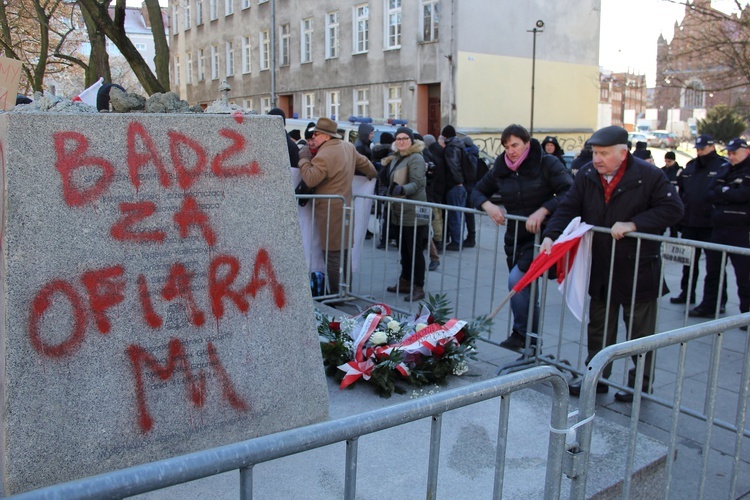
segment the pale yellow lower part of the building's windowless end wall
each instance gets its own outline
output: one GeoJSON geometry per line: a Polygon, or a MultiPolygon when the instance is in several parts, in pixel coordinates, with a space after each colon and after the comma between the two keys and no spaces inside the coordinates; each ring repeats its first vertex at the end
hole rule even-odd
{"type": "MultiPolygon", "coordinates": [[[[531,59],[459,52],[458,61],[456,128],[502,130],[512,123],[529,128],[531,59]]],[[[598,66],[537,59],[535,86],[537,138],[596,129],[598,66]]]]}

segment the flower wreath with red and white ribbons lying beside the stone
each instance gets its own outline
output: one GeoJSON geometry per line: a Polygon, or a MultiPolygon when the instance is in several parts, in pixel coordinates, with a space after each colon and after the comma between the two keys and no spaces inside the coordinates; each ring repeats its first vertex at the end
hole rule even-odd
{"type": "Polygon", "coordinates": [[[430,295],[420,313],[404,321],[394,319],[383,304],[341,321],[316,313],[326,373],[342,389],[364,380],[384,397],[405,392],[398,382],[419,386],[462,375],[490,321],[451,318],[447,304],[445,295],[430,295]]]}

